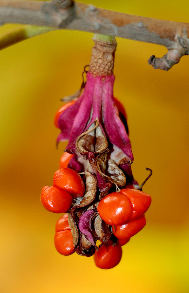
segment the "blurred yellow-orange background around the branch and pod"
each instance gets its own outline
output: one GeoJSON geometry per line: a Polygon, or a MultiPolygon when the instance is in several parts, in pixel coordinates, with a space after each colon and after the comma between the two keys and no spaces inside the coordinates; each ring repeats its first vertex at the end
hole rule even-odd
{"type": "MultiPolygon", "coordinates": [[[[189,22],[189,2],[83,1],[141,16],[189,22]]],[[[1,27],[3,33],[6,27],[1,27]]],[[[8,28],[9,29],[9,28],[8,28]]],[[[11,29],[11,28],[10,28],[11,29]]],[[[54,115],[60,99],[81,85],[90,61],[93,34],[55,31],[0,52],[1,91],[1,260],[2,293],[186,293],[188,285],[188,68],[181,58],[170,71],[154,70],[147,59],[166,48],[117,38],[114,95],[124,104],[134,154],[132,170],[152,197],[147,225],[123,246],[110,270],[93,257],[55,250],[60,215],[40,203],[52,185],[66,143],[55,147],[54,115]]]]}

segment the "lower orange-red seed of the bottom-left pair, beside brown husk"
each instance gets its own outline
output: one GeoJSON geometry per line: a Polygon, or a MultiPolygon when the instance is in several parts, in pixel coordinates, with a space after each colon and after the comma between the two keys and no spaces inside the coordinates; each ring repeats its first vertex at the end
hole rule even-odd
{"type": "Polygon", "coordinates": [[[55,248],[62,255],[71,255],[75,252],[71,230],[64,230],[55,233],[55,248]]]}

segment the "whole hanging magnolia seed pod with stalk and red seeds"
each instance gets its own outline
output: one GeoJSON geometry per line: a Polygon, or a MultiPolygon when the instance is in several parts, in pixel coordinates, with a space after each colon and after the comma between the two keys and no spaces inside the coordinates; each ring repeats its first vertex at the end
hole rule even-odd
{"type": "Polygon", "coordinates": [[[145,226],[151,197],[133,178],[127,117],[113,96],[117,43],[103,35],[93,40],[79,97],[71,96],[55,115],[57,144],[68,144],[41,202],[50,212],[65,213],[55,228],[59,253],[94,255],[97,267],[109,269],[120,262],[121,246],[145,226]]]}

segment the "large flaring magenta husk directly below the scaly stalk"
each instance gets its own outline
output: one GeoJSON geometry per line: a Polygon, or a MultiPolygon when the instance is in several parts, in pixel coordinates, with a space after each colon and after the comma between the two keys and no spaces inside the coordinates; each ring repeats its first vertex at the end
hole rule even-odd
{"type": "Polygon", "coordinates": [[[113,97],[114,80],[113,74],[93,77],[88,72],[83,94],[60,115],[58,125],[62,133],[58,141],[69,139],[69,151],[74,151],[76,139],[98,119],[105,137],[124,152],[128,161],[133,161],[130,139],[113,97]]]}

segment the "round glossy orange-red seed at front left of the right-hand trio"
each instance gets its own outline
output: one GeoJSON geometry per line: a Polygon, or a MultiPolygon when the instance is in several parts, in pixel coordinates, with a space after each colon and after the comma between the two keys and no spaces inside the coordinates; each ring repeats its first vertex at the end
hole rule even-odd
{"type": "Polygon", "coordinates": [[[122,225],[131,217],[132,206],[126,195],[113,192],[99,202],[98,212],[105,223],[122,225]]]}

